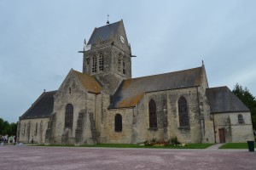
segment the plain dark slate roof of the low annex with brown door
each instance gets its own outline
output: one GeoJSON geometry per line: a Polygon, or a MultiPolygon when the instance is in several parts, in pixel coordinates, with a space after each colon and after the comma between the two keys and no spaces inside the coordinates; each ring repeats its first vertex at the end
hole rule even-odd
{"type": "Polygon", "coordinates": [[[211,113],[250,111],[228,87],[207,88],[211,113]]]}

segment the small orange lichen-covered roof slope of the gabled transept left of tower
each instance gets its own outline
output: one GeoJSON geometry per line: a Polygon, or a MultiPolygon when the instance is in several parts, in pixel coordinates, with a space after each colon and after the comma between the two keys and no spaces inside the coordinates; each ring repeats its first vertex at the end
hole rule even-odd
{"type": "Polygon", "coordinates": [[[79,71],[74,71],[74,73],[79,77],[79,81],[83,84],[84,88],[91,93],[100,94],[102,86],[96,81],[95,77],[91,77],[86,73],[81,73],[79,71]]]}

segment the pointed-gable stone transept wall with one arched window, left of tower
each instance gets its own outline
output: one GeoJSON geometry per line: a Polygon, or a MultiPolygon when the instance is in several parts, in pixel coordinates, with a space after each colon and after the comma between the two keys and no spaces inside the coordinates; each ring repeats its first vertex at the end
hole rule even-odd
{"type": "MultiPolygon", "coordinates": [[[[54,125],[55,133],[53,136],[56,144],[75,144],[76,139],[79,140],[79,143],[81,143],[81,141],[86,141],[84,136],[81,137],[81,139],[78,139],[78,136],[76,137],[76,133],[78,134],[80,129],[80,127],[77,127],[77,125],[80,123],[78,122],[79,113],[83,112],[84,116],[86,116],[86,114],[91,115],[92,118],[95,119],[96,105],[98,105],[96,102],[96,94],[88,93],[83,85],[79,82],[78,78],[75,77],[75,75],[71,72],[67,76],[66,80],[62,83],[61,88],[59,88],[58,92],[55,94],[55,105],[53,112],[56,113],[56,122],[54,125]],[[67,104],[73,105],[73,127],[71,128],[65,127],[65,112],[67,104]],[[78,129],[77,132],[76,129],[78,129]]],[[[83,126],[87,127],[86,125],[83,126]]],[[[95,126],[95,123],[93,126],[95,126]]],[[[82,127],[83,130],[84,127],[82,127]]],[[[90,129],[87,128],[89,131],[90,129]]],[[[86,131],[84,131],[84,133],[85,132],[86,131]]],[[[90,133],[89,138],[91,135],[92,134],[90,133]]],[[[88,140],[88,142],[90,143],[91,140],[88,140]]]]}

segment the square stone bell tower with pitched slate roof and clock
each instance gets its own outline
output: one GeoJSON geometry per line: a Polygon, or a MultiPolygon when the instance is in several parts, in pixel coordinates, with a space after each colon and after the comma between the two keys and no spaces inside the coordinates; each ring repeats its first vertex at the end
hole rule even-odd
{"type": "Polygon", "coordinates": [[[123,20],[108,23],[95,28],[87,43],[84,40],[83,72],[113,94],[120,82],[131,78],[131,47],[123,20]]]}

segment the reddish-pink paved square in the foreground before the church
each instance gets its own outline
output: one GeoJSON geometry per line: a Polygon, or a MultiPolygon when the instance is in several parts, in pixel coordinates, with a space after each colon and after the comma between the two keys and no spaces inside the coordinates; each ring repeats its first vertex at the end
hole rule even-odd
{"type": "Polygon", "coordinates": [[[0,147],[0,169],[256,169],[247,150],[0,147]]]}

